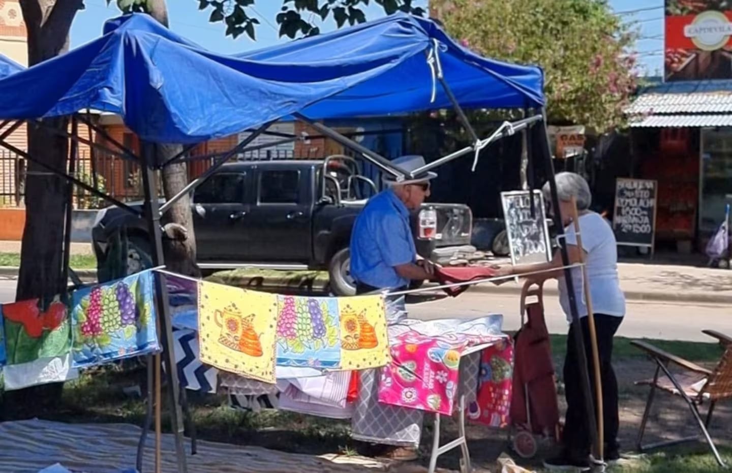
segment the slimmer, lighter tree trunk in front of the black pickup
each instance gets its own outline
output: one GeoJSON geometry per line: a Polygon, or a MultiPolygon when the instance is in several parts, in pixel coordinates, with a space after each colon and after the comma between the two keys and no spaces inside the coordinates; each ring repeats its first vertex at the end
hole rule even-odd
{"type": "MultiPolygon", "coordinates": [[[[168,8],[165,0],[148,0],[146,7],[152,18],[168,28],[168,8]]],[[[158,162],[167,162],[168,159],[183,151],[182,145],[170,144],[159,144],[155,149],[158,162]]],[[[161,173],[165,200],[178,194],[188,183],[188,167],[185,162],[169,164],[163,168],[161,173]]],[[[174,203],[163,215],[163,223],[168,229],[164,233],[166,238],[163,241],[165,266],[175,273],[200,277],[201,270],[195,264],[195,232],[188,194],[174,203]]]]}

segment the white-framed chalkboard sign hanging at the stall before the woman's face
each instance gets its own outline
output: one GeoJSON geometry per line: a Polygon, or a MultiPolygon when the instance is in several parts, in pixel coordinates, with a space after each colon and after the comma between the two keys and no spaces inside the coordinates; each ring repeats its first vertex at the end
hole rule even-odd
{"type": "Polygon", "coordinates": [[[529,191],[501,192],[511,262],[531,264],[551,260],[544,196],[534,191],[534,214],[531,214],[529,191]]]}

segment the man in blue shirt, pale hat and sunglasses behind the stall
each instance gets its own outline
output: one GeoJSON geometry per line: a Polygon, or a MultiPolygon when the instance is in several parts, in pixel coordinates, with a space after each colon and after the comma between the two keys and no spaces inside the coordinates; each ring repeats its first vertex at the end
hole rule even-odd
{"type": "MultiPolygon", "coordinates": [[[[424,166],[425,159],[422,156],[403,156],[395,159],[394,164],[411,172],[424,166]]],[[[435,265],[417,257],[409,215],[429,197],[430,180],[436,177],[435,173],[424,173],[397,183],[392,176],[384,176],[388,189],[369,200],[356,218],[351,236],[351,276],[356,280],[357,294],[405,290],[410,281],[433,279],[435,265]]],[[[389,325],[406,318],[404,300],[404,296],[386,298],[389,325]]],[[[388,423],[393,431],[386,434],[384,430],[386,438],[371,436],[368,440],[389,445],[386,456],[393,460],[417,459],[416,448],[405,447],[403,443],[394,441],[400,436],[400,431],[416,428],[419,432],[421,429],[421,421],[419,425],[410,424],[414,415],[408,410],[396,406],[373,406],[370,410],[374,418],[389,417],[388,423]]]]}

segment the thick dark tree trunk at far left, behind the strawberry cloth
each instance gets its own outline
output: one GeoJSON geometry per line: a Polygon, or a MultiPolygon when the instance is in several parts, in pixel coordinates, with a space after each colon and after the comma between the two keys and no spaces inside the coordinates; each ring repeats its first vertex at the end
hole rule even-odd
{"type": "MultiPolygon", "coordinates": [[[[81,0],[20,0],[28,30],[29,65],[59,56],[69,46],[69,30],[81,0]]],[[[43,124],[67,130],[68,118],[48,118],[43,124]]],[[[37,126],[28,126],[28,153],[59,171],[66,170],[69,140],[37,126]]],[[[64,208],[68,184],[58,175],[28,162],[25,183],[26,225],[20,249],[16,300],[42,298],[47,303],[66,289],[62,280],[64,208]]],[[[4,413],[15,418],[34,417],[61,395],[60,383],[6,393],[4,413]]]]}

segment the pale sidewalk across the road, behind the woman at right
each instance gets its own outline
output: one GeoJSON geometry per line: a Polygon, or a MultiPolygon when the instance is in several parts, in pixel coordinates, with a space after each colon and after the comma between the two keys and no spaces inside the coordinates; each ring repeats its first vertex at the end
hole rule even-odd
{"type": "MultiPolygon", "coordinates": [[[[732,304],[732,270],[650,263],[620,263],[618,270],[627,300],[732,304]]],[[[473,290],[518,294],[521,286],[481,284],[473,290]]],[[[544,291],[556,294],[556,281],[547,281],[544,291]]]]}

